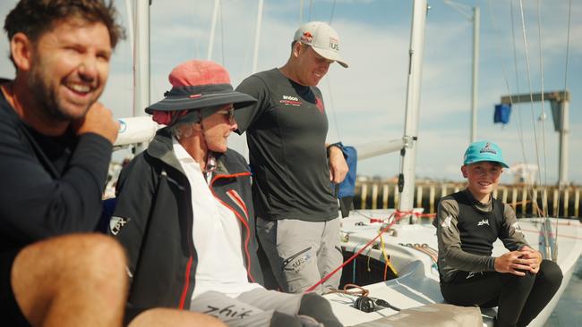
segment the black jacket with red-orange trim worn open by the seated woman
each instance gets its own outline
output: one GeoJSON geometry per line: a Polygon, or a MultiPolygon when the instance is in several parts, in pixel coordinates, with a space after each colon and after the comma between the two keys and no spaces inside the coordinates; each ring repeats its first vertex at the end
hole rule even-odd
{"type": "MultiPolygon", "coordinates": [[[[256,256],[251,173],[234,150],[217,155],[210,182],[214,197],[241,222],[249,281],[261,281],[256,256]]],[[[190,307],[197,268],[193,245],[192,196],[167,128],[158,130],[147,151],[124,168],[109,232],[126,248],[131,285],[128,314],[156,307],[190,307]]]]}

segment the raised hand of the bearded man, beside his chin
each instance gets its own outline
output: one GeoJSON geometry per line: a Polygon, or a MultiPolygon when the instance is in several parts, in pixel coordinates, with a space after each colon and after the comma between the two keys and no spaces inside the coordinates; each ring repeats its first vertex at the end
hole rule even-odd
{"type": "Polygon", "coordinates": [[[72,127],[77,135],[95,133],[113,144],[116,142],[119,122],[113,120],[109,109],[96,102],[90,106],[83,118],[73,121],[72,127]]]}

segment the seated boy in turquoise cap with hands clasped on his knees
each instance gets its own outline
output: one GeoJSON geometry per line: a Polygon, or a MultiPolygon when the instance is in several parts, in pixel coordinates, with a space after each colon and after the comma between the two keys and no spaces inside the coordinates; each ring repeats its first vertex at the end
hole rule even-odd
{"type": "Polygon", "coordinates": [[[498,306],[495,326],[526,326],[561,285],[561,269],[526,243],[511,206],[492,197],[503,168],[501,148],[472,143],[461,166],[466,189],[443,197],[437,228],[443,298],[457,306],[498,306]],[[501,239],[509,252],[492,256],[501,239]]]}

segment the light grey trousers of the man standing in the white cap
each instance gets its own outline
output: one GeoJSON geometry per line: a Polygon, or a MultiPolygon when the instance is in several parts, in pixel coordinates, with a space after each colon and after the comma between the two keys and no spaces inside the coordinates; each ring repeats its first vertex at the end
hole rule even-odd
{"type": "MultiPolygon", "coordinates": [[[[268,221],[257,217],[257,235],[278,285],[289,293],[302,293],[343,262],[339,240],[340,218],[328,222],[298,219],[268,221]]],[[[322,294],[337,289],[341,270],[319,285],[322,294]]]]}

